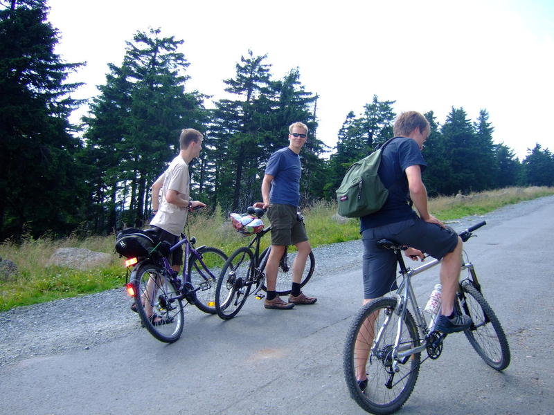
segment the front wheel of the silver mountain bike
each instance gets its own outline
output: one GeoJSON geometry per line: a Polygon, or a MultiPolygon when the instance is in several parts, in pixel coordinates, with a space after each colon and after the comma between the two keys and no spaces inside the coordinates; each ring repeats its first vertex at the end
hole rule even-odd
{"type": "Polygon", "coordinates": [[[461,284],[463,295],[458,293],[456,304],[472,317],[473,323],[465,330],[465,337],[485,363],[501,371],[510,365],[510,345],[497,315],[472,282],[461,284]]]}

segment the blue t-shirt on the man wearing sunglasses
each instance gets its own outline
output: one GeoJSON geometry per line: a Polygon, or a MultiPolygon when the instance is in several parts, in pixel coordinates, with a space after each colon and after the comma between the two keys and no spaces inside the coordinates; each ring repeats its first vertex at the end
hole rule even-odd
{"type": "Polygon", "coordinates": [[[285,147],[275,151],[267,161],[265,174],[274,176],[269,203],[298,206],[300,201],[300,157],[285,147]]]}

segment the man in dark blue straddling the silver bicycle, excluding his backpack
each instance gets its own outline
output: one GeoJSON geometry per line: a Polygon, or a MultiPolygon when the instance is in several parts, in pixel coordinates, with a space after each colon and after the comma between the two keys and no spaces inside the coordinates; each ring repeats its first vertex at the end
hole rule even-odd
{"type": "MultiPolygon", "coordinates": [[[[364,304],[397,288],[396,257],[392,250],[377,246],[379,239],[390,239],[409,247],[405,254],[413,260],[426,255],[443,259],[440,267],[442,312],[435,329],[443,333],[463,331],[471,324],[467,315],[454,311],[454,297],[461,270],[462,241],[458,235],[429,214],[427,190],[422,172],[427,163],[421,154],[431,127],[416,111],[407,111],[395,120],[394,137],[382,149],[379,178],[388,190],[388,197],[377,212],[361,217],[360,233],[364,243],[364,304]],[[412,204],[418,211],[412,210],[412,204]]],[[[373,338],[371,333],[367,333],[373,338]]],[[[371,344],[369,339],[365,344],[371,344]]],[[[362,342],[359,346],[363,347],[362,342]]],[[[365,347],[367,349],[367,347],[365,347]]],[[[368,352],[368,351],[367,351],[368,352]]],[[[360,389],[367,385],[364,356],[357,367],[360,389]]],[[[367,358],[367,354],[365,356],[367,358]]]]}

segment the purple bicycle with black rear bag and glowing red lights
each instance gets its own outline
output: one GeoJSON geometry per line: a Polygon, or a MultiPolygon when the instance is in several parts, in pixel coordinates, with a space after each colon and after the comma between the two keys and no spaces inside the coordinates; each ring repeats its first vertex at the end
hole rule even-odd
{"type": "Polygon", "coordinates": [[[181,234],[174,246],[157,241],[150,233],[152,249],[141,257],[132,257],[125,266],[134,266],[127,293],[134,298],[132,309],[139,313],[143,326],[161,342],[172,343],[179,339],[184,327],[184,306],[194,304],[205,313],[215,314],[215,287],[227,256],[209,246],[195,248],[196,239],[181,234]],[[168,255],[184,246],[182,272],[172,270],[168,255]],[[185,304],[183,304],[185,302],[185,304]],[[150,315],[150,317],[149,317],[150,315]]]}

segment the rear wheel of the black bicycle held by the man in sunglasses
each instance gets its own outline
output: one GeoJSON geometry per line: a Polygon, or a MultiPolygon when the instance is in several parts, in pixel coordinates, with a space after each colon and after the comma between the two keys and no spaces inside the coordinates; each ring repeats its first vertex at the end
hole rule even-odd
{"type": "Polygon", "coordinates": [[[223,320],[235,317],[248,298],[253,259],[252,251],[242,246],[231,254],[223,266],[215,290],[215,309],[223,320]]]}

